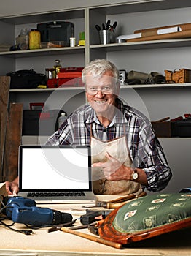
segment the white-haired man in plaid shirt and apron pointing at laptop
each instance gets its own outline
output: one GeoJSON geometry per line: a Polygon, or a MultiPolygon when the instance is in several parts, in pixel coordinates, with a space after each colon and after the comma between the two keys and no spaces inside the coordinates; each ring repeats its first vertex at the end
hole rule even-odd
{"type": "MultiPolygon", "coordinates": [[[[87,105],[72,113],[47,145],[91,147],[93,191],[99,195],[157,192],[171,179],[171,169],[149,120],[119,98],[117,68],[96,59],[82,71],[87,105]]],[[[7,189],[16,188],[7,182],[7,189]],[[13,187],[12,187],[13,186],[13,187]]]]}

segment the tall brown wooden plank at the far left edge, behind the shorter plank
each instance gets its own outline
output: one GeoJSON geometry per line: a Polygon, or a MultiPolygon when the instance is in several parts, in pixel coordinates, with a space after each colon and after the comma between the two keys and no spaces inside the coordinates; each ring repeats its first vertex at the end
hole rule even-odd
{"type": "Polygon", "coordinates": [[[0,182],[3,180],[4,148],[7,133],[10,77],[0,76],[0,182]]]}

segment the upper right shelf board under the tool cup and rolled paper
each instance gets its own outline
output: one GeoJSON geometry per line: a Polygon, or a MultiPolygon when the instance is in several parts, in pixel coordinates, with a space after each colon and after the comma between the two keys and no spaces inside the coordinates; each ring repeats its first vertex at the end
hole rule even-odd
{"type": "Polygon", "coordinates": [[[187,47],[191,45],[191,39],[165,39],[165,40],[152,40],[142,42],[122,42],[112,43],[107,45],[90,45],[91,49],[104,50],[104,51],[117,51],[117,50],[141,50],[150,48],[168,48],[168,47],[187,47]]]}

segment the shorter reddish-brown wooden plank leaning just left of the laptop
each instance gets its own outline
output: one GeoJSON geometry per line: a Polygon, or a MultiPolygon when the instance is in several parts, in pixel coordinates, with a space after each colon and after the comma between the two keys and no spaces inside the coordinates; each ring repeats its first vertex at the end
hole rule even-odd
{"type": "Polygon", "coordinates": [[[5,180],[12,181],[17,177],[18,148],[21,144],[23,124],[23,103],[11,103],[4,156],[5,180]]]}

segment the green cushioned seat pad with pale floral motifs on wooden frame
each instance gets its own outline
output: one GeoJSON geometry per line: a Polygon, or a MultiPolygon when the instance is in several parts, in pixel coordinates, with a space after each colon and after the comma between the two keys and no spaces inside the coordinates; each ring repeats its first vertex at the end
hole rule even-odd
{"type": "Polygon", "coordinates": [[[135,233],[190,218],[191,193],[155,194],[119,208],[112,225],[121,233],[135,233]]]}

